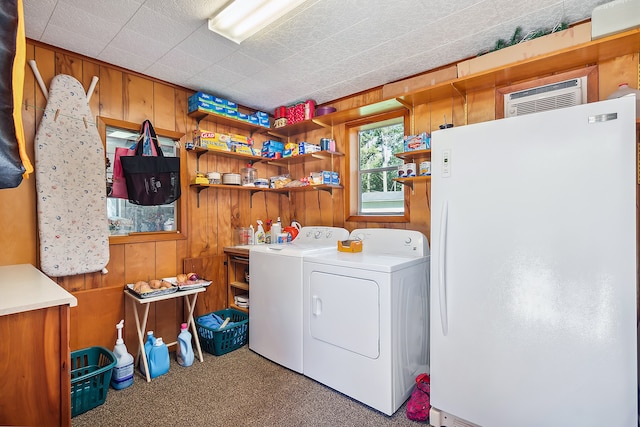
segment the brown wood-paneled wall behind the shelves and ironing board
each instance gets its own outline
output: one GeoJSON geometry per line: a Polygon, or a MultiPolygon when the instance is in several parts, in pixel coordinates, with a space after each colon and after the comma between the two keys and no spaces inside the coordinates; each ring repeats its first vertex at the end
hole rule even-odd
{"type": "MultiPolygon", "coordinates": [[[[90,106],[96,116],[103,116],[133,123],[150,119],[156,128],[186,134],[190,139],[196,122],[187,115],[187,99],[192,93],[165,82],[157,81],[134,72],[101,63],[90,58],[63,51],[38,42],[28,41],[27,59],[35,59],[40,73],[48,85],[56,74],[69,74],[89,87],[93,76],[99,77],[98,85],[90,106]]],[[[600,98],[613,92],[621,81],[637,79],[638,57],[627,55],[607,63],[599,64],[600,98]]],[[[558,72],[567,71],[558,64],[558,72]]],[[[514,82],[515,83],[515,82],[514,82]]],[[[332,105],[345,109],[380,101],[382,90],[372,89],[363,93],[337,100],[332,105]]],[[[46,106],[44,96],[33,78],[30,69],[25,73],[23,120],[30,158],[34,159],[33,141],[37,125],[46,106]]],[[[495,118],[495,90],[456,96],[431,104],[417,106],[413,112],[414,132],[430,132],[445,120],[455,125],[478,123],[495,118]]],[[[237,129],[216,126],[208,121],[200,127],[210,131],[234,132],[237,129]]],[[[316,130],[296,136],[293,141],[318,142],[320,138],[333,136],[338,151],[345,152],[345,126],[327,130],[316,130]]],[[[267,138],[254,135],[259,147],[267,138]]],[[[200,157],[187,153],[181,148],[181,156],[186,156],[187,177],[201,172],[239,172],[241,161],[206,154],[200,157]]],[[[292,177],[308,175],[312,171],[325,168],[339,168],[344,176],[344,160],[327,164],[328,160],[313,160],[299,164],[290,170],[292,177]]],[[[37,165],[36,165],[37,167],[37,165]]],[[[259,177],[276,175],[283,170],[265,164],[257,164],[259,177]]],[[[122,289],[126,283],[153,277],[173,276],[185,268],[183,265],[201,265],[214,284],[199,297],[198,313],[206,313],[224,308],[226,301],[226,277],[222,266],[223,248],[234,244],[234,230],[239,226],[255,224],[257,219],[275,219],[280,216],[284,224],[297,220],[302,225],[331,225],[349,230],[361,227],[402,227],[430,234],[429,182],[418,182],[413,190],[405,190],[410,208],[408,223],[364,223],[347,222],[344,214],[344,194],[334,191],[295,193],[286,195],[256,193],[233,189],[208,189],[198,193],[184,183],[181,203],[186,204],[186,238],[170,241],[141,243],[118,243],[110,246],[111,259],[107,265],[108,274],[92,273],[55,280],[73,292],[78,298],[78,307],[71,313],[72,350],[92,345],[113,346],[115,325],[125,318],[126,343],[130,352],[137,350],[135,327],[131,307],[125,300],[122,289]],[[198,200],[199,199],[199,200],[198,200]],[[186,262],[185,262],[186,261],[186,262]],[[206,267],[205,267],[206,266],[206,267]],[[124,317],[123,317],[124,316],[124,317]]],[[[4,225],[0,232],[0,265],[29,263],[38,266],[38,234],[36,218],[35,177],[24,180],[15,189],[0,191],[0,222],[4,225]]],[[[152,309],[149,328],[157,336],[171,338],[178,333],[179,324],[184,320],[181,301],[173,300],[158,304],[152,309]]],[[[171,339],[170,341],[173,341],[171,339]]]]}

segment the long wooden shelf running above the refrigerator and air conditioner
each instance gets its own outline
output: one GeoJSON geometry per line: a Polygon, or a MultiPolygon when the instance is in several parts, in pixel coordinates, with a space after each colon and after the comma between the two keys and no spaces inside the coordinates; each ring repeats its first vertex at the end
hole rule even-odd
{"type": "Polygon", "coordinates": [[[440,82],[402,95],[396,100],[409,106],[416,106],[453,96],[464,96],[471,91],[550,75],[558,70],[558,66],[562,66],[563,69],[578,68],[636,53],[638,46],[640,46],[640,29],[633,29],[470,76],[440,82]]]}

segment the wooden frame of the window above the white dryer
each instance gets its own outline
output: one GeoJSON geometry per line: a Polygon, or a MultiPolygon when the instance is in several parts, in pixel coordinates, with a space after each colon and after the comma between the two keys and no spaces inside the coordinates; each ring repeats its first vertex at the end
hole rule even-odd
{"type": "Polygon", "coordinates": [[[345,218],[347,221],[357,222],[410,222],[410,204],[408,189],[404,187],[404,213],[402,214],[372,214],[363,215],[358,212],[360,185],[359,185],[359,146],[358,132],[365,127],[370,127],[376,123],[402,118],[404,122],[405,134],[409,129],[410,119],[406,109],[378,114],[359,120],[345,123],[346,153],[345,153],[345,218]]]}

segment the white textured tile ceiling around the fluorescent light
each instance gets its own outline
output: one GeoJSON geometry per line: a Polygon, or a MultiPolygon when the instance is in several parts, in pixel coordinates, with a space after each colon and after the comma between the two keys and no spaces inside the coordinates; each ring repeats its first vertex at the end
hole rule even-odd
{"type": "Polygon", "coordinates": [[[475,56],[500,38],[575,23],[609,0],[307,0],[237,45],[207,0],[24,0],[32,40],[273,112],[475,56]]]}

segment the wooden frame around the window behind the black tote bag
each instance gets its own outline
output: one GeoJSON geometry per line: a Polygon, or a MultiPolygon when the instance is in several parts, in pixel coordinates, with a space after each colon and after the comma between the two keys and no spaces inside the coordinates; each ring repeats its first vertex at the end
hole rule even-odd
{"type": "MultiPolygon", "coordinates": [[[[102,144],[107,147],[107,126],[126,129],[134,132],[140,131],[140,123],[127,122],[124,120],[111,119],[108,117],[97,117],[98,133],[102,139],[102,144]]],[[[114,235],[109,236],[109,244],[123,244],[123,243],[141,243],[141,242],[157,242],[157,241],[170,241],[170,240],[184,240],[187,238],[187,202],[184,197],[187,194],[186,186],[186,159],[182,147],[184,145],[185,134],[175,132],[167,129],[160,129],[154,127],[158,136],[171,138],[179,141],[179,146],[176,147],[176,152],[180,158],[180,187],[182,196],[176,200],[176,229],[173,231],[146,231],[146,232],[132,232],[128,235],[114,235]]]]}

